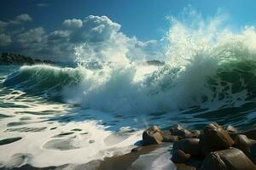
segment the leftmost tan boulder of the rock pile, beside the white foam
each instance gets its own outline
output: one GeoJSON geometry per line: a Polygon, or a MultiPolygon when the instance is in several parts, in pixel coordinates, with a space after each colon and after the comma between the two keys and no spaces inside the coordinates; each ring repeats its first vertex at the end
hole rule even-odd
{"type": "Polygon", "coordinates": [[[159,127],[149,127],[143,132],[143,144],[160,144],[163,140],[159,127]]]}

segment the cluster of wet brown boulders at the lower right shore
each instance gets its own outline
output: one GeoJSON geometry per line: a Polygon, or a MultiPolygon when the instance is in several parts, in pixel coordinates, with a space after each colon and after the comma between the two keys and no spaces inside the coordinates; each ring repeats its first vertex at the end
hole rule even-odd
{"type": "Polygon", "coordinates": [[[210,123],[202,132],[175,125],[167,131],[150,127],[143,144],[172,142],[172,161],[179,169],[256,170],[256,130],[238,132],[210,123]]]}

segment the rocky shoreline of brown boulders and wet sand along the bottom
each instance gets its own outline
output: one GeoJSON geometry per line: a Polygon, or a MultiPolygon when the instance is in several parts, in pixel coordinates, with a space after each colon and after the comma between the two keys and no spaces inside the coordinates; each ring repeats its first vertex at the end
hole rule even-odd
{"type": "Polygon", "coordinates": [[[162,163],[166,167],[173,169],[176,167],[177,170],[218,170],[222,167],[224,170],[240,170],[241,165],[248,170],[256,169],[255,129],[240,132],[232,126],[224,129],[217,123],[207,125],[203,131],[188,130],[180,125],[161,131],[154,126],[143,132],[142,144],[125,155],[105,157],[104,160],[89,161],[81,165],[32,167],[26,164],[22,167],[2,167],[0,170],[133,170],[150,169],[148,167],[154,166],[155,162],[156,165],[162,163]],[[163,155],[167,157],[159,161],[160,156],[163,155]]]}

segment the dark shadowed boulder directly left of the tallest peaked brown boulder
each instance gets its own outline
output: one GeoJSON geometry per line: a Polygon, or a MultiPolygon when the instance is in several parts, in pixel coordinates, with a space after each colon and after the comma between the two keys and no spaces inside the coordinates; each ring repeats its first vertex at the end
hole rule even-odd
{"type": "Polygon", "coordinates": [[[200,156],[199,139],[181,139],[173,144],[174,152],[176,150],[183,150],[184,153],[190,156],[200,156]]]}

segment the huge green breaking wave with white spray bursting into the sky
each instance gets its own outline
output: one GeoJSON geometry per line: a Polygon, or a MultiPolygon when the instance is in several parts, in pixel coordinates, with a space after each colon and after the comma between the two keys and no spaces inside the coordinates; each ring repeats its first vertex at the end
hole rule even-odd
{"type": "Polygon", "coordinates": [[[218,109],[254,99],[255,29],[220,30],[218,18],[198,23],[172,20],[165,65],[143,64],[143,57],[134,61],[124,44],[106,51],[85,44],[75,48],[76,68],[23,66],[3,83],[84,108],[130,114],[195,105],[218,109]]]}

